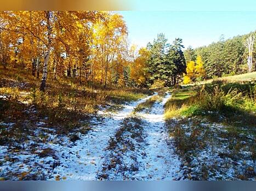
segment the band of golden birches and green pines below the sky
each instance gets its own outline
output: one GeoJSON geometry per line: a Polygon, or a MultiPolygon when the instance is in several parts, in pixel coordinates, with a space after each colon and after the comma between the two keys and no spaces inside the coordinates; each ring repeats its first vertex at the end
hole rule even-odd
{"type": "MultiPolygon", "coordinates": [[[[126,23],[118,14],[5,11],[1,13],[1,63],[5,68],[29,69],[37,79],[42,75],[43,91],[47,76],[54,80],[73,77],[92,87],[94,82],[104,87],[151,87],[154,83],[171,87],[183,80],[186,63],[190,63],[188,69],[196,67],[197,57],[201,65],[191,81],[246,73],[249,52],[244,41],[253,34],[227,40],[221,36],[217,43],[196,49],[189,46],[183,52],[182,39],[170,44],[160,33],[138,50],[129,45],[126,23]]],[[[255,58],[255,48],[253,53],[255,58]]]]}

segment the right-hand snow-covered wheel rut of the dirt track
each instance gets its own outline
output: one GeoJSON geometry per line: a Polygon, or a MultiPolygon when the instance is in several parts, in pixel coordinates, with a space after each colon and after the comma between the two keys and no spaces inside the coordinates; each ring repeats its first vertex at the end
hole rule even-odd
{"type": "Polygon", "coordinates": [[[163,106],[169,97],[167,94],[162,102],[155,103],[149,114],[141,114],[146,121],[146,157],[139,159],[145,166],[139,169],[138,175],[145,177],[144,180],[176,180],[182,176],[179,157],[164,125],[163,106]]]}

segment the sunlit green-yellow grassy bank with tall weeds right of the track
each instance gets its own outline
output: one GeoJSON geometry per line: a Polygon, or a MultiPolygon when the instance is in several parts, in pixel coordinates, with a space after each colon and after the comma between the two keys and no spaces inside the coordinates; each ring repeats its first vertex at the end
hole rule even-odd
{"type": "Polygon", "coordinates": [[[180,116],[212,116],[217,112],[227,119],[238,117],[244,124],[255,124],[253,123],[256,112],[255,95],[254,81],[246,83],[215,81],[208,85],[176,89],[165,105],[166,120],[180,116]]]}

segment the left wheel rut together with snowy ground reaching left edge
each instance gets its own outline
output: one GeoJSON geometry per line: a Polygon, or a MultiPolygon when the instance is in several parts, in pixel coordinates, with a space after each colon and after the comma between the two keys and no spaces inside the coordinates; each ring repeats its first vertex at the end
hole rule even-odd
{"type": "Polygon", "coordinates": [[[45,128],[43,122],[38,122],[33,132],[35,136],[30,136],[19,150],[0,146],[0,178],[95,180],[110,136],[134,107],[149,97],[124,105],[117,114],[98,112],[90,122],[92,129],[87,134],[77,133],[75,141],[70,139],[72,134],[58,135],[54,129],[45,128]]]}

